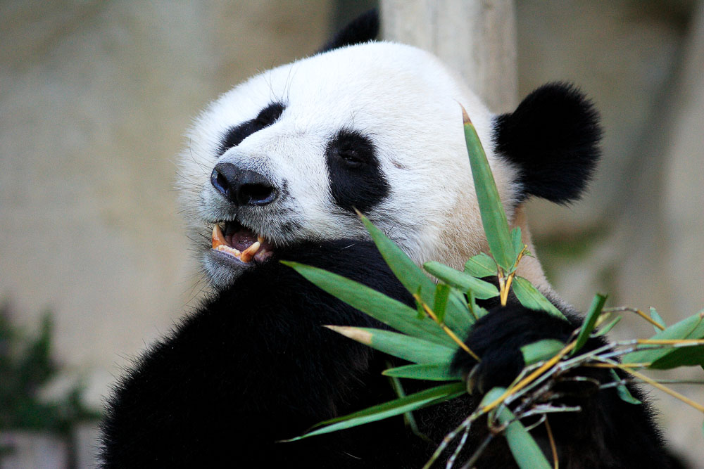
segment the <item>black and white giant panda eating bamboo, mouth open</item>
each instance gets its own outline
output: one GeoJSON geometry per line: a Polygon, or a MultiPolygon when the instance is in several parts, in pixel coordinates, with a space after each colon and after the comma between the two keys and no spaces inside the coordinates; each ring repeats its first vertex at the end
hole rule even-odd
{"type": "MultiPolygon", "coordinates": [[[[395,397],[381,375],[388,356],[321,327],[380,325],[279,260],[322,267],[413,304],[356,210],[418,264],[461,268],[486,250],[460,105],[524,236],[524,200],[579,198],[599,156],[598,116],[574,87],[542,86],[513,113],[492,115],[431,54],[372,41],[377,27],[375,13],[364,15],[315,55],[223,94],[189,130],[179,186],[212,292],[115,385],[102,423],[103,467],[420,468],[482,392],[520,372],[520,346],[567,340],[579,326],[538,260],[527,259],[522,276],[571,322],[515,300],[485,304],[490,313],[467,338],[481,364],[466,354],[454,361],[465,375],[477,366],[477,384],[472,394],[415,412],[425,439],[391,418],[279,442],[395,397]]],[[[566,399],[582,412],[551,417],[560,467],[670,467],[647,404],[627,404],[613,389],[566,399]]],[[[486,436],[475,428],[460,460],[486,436]]],[[[543,426],[533,434],[549,454],[543,426]]],[[[476,467],[514,465],[495,438],[476,467]]]]}

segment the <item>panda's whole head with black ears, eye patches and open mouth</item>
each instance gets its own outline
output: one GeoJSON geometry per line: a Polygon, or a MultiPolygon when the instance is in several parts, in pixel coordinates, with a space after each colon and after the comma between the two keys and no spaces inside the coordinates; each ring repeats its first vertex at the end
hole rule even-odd
{"type": "Polygon", "coordinates": [[[579,197],[600,129],[578,91],[548,84],[492,115],[431,54],[367,41],[375,27],[362,18],[315,56],[239,84],[189,130],[178,185],[215,286],[284,247],[367,238],[356,210],[419,264],[459,268],[485,250],[460,105],[510,220],[530,195],[579,197]]]}

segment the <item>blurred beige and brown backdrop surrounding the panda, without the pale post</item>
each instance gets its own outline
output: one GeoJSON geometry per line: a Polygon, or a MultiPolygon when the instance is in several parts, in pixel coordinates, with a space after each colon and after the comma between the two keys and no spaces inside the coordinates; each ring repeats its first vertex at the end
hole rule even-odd
{"type": "MultiPolygon", "coordinates": [[[[109,386],[194,304],[201,285],[172,190],[191,117],[376,4],[0,1],[0,467],[94,465],[109,386]]],[[[513,8],[519,96],[574,82],[605,127],[589,195],[530,203],[555,290],[579,309],[600,291],[667,323],[696,313],[704,1],[513,8]]],[[[636,320],[617,329],[653,333],[636,320]]],[[[704,402],[700,385],[677,390],[704,402]]],[[[651,395],[672,447],[704,468],[702,416],[651,395]]]]}

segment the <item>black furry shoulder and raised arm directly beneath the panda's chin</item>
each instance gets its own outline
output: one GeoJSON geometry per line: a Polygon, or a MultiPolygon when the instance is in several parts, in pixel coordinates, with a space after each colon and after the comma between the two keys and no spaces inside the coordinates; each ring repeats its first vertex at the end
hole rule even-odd
{"type": "MultiPolygon", "coordinates": [[[[310,243],[280,257],[412,301],[371,243],[310,243]]],[[[118,385],[103,422],[104,467],[417,467],[432,446],[401,418],[276,443],[394,399],[380,374],[386,358],[323,324],[379,326],[276,260],[244,272],[118,385]]]]}

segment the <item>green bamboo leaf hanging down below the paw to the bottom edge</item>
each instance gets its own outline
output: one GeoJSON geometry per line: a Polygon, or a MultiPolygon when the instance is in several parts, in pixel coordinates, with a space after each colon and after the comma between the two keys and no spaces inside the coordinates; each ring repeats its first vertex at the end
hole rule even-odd
{"type": "MultiPolygon", "coordinates": [[[[498,399],[504,392],[505,389],[503,387],[494,387],[486,393],[479,407],[481,408],[498,399]]],[[[503,434],[520,469],[551,469],[551,465],[548,464],[548,460],[545,458],[540,446],[538,446],[523,424],[520,423],[520,420],[516,420],[515,415],[507,406],[502,404],[494,411],[491,411],[490,414],[495,416],[501,425],[508,425],[503,434]]]]}

